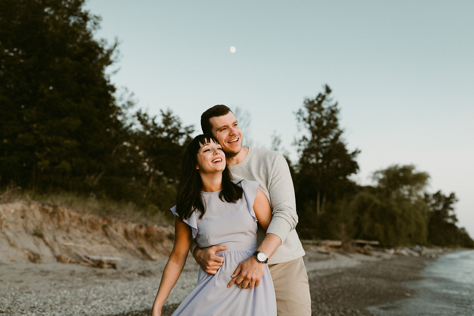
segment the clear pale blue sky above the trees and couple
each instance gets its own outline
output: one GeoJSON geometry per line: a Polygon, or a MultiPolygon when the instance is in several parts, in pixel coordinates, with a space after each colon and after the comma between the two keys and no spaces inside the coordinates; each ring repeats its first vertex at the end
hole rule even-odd
{"type": "MultiPolygon", "coordinates": [[[[96,38],[117,38],[119,91],[151,115],[171,109],[201,132],[216,104],[238,108],[244,144],[293,162],[295,112],[328,84],[359,184],[393,164],[455,192],[474,238],[474,1],[88,0],[96,38]],[[236,48],[231,53],[230,47],[236,48]]],[[[116,72],[115,72],[116,71],[116,72]]],[[[112,72],[115,72],[112,74],[112,72]]]]}

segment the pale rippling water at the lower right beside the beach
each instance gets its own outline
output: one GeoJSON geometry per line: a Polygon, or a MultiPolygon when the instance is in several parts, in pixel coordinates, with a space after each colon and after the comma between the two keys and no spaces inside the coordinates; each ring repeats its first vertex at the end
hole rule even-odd
{"type": "Polygon", "coordinates": [[[382,316],[474,316],[474,250],[426,263],[423,280],[403,284],[416,291],[410,298],[367,309],[382,316]]]}

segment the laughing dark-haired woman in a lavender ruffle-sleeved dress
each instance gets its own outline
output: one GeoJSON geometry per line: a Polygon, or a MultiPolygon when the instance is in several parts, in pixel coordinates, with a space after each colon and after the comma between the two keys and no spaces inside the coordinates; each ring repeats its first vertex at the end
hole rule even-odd
{"type": "Polygon", "coordinates": [[[198,283],[173,315],[276,315],[273,282],[265,264],[258,286],[228,287],[239,262],[255,253],[257,223],[266,229],[272,219],[268,199],[255,181],[231,180],[226,158],[217,140],[198,135],[186,148],[182,175],[172,208],[175,218],[173,251],[166,263],[152,316],[161,309],[179,278],[191,239],[200,247],[225,244],[217,253],[224,262],[215,275],[199,269],[198,283]]]}

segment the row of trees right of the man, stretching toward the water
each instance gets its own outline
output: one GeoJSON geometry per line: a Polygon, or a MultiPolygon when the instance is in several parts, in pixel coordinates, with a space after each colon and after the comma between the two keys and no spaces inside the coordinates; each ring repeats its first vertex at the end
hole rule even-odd
{"type": "Polygon", "coordinates": [[[384,246],[433,244],[474,247],[456,226],[456,195],[428,193],[429,175],[413,165],[373,173],[374,186],[350,180],[359,150],[347,150],[331,89],[306,99],[296,113],[300,159],[292,165],[299,234],[304,238],[369,239],[384,246]]]}

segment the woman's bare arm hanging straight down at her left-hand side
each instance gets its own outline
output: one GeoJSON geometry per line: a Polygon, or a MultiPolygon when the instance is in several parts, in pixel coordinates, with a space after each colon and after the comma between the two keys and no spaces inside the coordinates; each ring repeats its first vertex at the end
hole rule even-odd
{"type": "Polygon", "coordinates": [[[191,227],[184,223],[179,217],[174,221],[174,245],[170,259],[164,267],[161,277],[160,287],[156,293],[155,302],[152,307],[152,316],[161,315],[161,309],[168,295],[178,280],[186,258],[188,257],[189,246],[191,244],[191,227]]]}

